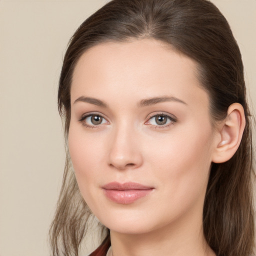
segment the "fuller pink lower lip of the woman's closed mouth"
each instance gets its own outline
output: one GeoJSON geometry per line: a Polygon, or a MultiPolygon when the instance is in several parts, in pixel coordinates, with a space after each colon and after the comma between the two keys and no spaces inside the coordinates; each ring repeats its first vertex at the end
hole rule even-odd
{"type": "Polygon", "coordinates": [[[128,204],[148,195],[153,188],[150,189],[131,189],[131,190],[110,190],[104,189],[107,198],[116,203],[128,204]]]}

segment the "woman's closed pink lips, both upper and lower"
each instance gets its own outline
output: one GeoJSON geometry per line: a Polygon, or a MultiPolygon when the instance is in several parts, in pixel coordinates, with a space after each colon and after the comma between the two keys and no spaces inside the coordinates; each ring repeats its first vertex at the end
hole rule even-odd
{"type": "Polygon", "coordinates": [[[136,182],[110,182],[102,186],[108,199],[116,203],[128,204],[148,195],[154,187],[142,185],[136,182]]]}

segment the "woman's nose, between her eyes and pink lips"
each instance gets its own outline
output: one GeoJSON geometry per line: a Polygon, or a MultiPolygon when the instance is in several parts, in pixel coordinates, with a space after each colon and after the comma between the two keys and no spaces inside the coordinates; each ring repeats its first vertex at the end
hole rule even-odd
{"type": "MultiPolygon", "coordinates": [[[[125,126],[125,125],[124,125],[125,126]]],[[[108,165],[119,170],[133,169],[142,165],[139,134],[131,128],[117,128],[111,134],[108,165]]]]}

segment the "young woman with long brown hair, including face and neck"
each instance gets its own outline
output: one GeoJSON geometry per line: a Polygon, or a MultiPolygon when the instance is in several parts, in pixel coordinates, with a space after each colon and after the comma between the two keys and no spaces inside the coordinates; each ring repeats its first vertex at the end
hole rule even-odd
{"type": "Polygon", "coordinates": [[[206,0],[112,0],[72,36],[59,80],[67,157],[53,255],[252,255],[243,65],[206,0]],[[72,170],[73,166],[73,170],[72,170]]]}

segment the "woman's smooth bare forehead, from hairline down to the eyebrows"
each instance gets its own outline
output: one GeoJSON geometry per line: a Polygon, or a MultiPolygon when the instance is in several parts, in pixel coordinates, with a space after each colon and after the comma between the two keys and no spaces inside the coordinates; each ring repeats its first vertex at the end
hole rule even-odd
{"type": "Polygon", "coordinates": [[[105,42],[89,48],[73,72],[71,100],[84,94],[112,98],[132,94],[132,99],[173,95],[186,100],[206,100],[197,79],[197,63],[155,39],[105,42]]]}

